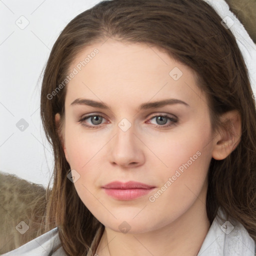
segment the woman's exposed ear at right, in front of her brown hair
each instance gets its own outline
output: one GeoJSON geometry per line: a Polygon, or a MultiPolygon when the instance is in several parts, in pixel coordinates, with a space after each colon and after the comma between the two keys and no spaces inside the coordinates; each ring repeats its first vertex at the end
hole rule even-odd
{"type": "Polygon", "coordinates": [[[236,148],[241,138],[241,116],[237,110],[222,114],[220,121],[226,128],[221,129],[212,141],[212,157],[216,160],[226,158],[236,148]]]}

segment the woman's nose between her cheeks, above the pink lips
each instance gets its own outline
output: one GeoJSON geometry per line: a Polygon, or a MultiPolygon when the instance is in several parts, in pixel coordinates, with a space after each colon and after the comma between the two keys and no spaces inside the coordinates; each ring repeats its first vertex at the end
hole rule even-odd
{"type": "Polygon", "coordinates": [[[143,164],[143,143],[138,139],[138,135],[135,135],[133,125],[127,130],[120,127],[116,127],[116,134],[109,143],[110,162],[121,167],[143,164]]]}

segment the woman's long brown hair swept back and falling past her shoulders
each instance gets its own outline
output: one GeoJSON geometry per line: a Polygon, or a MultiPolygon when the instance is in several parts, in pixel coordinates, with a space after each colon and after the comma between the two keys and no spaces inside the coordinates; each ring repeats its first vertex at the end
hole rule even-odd
{"type": "Polygon", "coordinates": [[[58,226],[67,255],[94,255],[104,226],[67,179],[70,166],[58,136],[61,127],[56,127],[54,120],[59,112],[63,121],[66,87],[51,99],[47,95],[66,78],[70,63],[81,49],[108,37],[157,46],[192,68],[198,87],[207,95],[212,131],[226,128],[219,119],[222,113],[232,109],[240,113],[239,144],[225,159],[211,159],[206,211],[212,223],[221,207],[256,240],[255,102],[235,38],[220,21],[202,0],[111,0],[77,15],[58,36],[44,71],[40,113],[54,152],[54,182],[45,231],[58,226]]]}

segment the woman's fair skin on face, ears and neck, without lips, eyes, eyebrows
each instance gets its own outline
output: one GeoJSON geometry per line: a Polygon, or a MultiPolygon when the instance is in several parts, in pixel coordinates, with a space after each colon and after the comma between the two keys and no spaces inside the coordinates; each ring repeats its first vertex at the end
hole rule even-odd
{"type": "MultiPolygon", "coordinates": [[[[196,85],[195,73],[155,46],[109,38],[80,51],[70,71],[94,48],[99,53],[66,85],[60,136],[72,174],[80,175],[75,189],[105,226],[97,254],[196,255],[210,226],[205,206],[208,166],[211,157],[225,158],[239,142],[240,117],[235,111],[221,117],[232,120],[235,137],[213,134],[206,97],[196,85]],[[174,67],[183,73],[178,80],[169,75],[174,67]],[[70,105],[77,98],[103,101],[111,110],[70,105]],[[138,111],[141,103],[166,98],[189,106],[176,103],[138,111]],[[91,113],[102,115],[101,123],[95,124],[90,117],[82,123],[99,128],[89,129],[78,121],[91,113]],[[163,114],[177,122],[164,119],[164,124],[172,125],[156,127],[164,125],[164,120],[157,121],[163,114]],[[131,125],[126,131],[118,126],[122,118],[131,125]],[[200,156],[155,201],[149,201],[197,151],[200,156]],[[155,188],[133,200],[118,200],[101,188],[114,180],[155,188]],[[130,226],[126,233],[118,228],[123,221],[130,226]]],[[[58,113],[55,120],[59,124],[58,113]]]]}

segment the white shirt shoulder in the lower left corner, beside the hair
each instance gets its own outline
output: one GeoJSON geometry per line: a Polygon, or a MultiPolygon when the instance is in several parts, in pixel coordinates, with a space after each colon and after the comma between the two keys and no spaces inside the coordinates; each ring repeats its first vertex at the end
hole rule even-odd
{"type": "MultiPolygon", "coordinates": [[[[48,256],[51,249],[60,244],[57,227],[36,237],[35,239],[11,250],[2,256],[48,256]]],[[[57,249],[52,256],[65,255],[62,247],[57,249]]]]}

